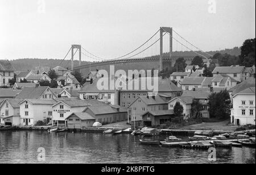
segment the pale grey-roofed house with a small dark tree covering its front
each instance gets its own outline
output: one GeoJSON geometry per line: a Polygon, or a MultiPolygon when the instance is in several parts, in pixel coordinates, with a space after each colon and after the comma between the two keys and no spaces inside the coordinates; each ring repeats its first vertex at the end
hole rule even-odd
{"type": "Polygon", "coordinates": [[[191,105],[193,103],[193,98],[191,96],[176,97],[168,102],[168,110],[174,110],[174,106],[177,102],[183,106],[183,119],[191,118],[191,105]]]}

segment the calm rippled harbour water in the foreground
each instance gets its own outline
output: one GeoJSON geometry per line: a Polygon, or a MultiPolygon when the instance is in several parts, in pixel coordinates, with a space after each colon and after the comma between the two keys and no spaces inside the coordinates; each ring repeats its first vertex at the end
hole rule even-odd
{"type": "MultiPolygon", "coordinates": [[[[141,145],[140,136],[100,133],[0,132],[0,163],[210,163],[207,151],[141,145]]],[[[255,149],[217,149],[214,163],[245,163],[255,149]]]]}

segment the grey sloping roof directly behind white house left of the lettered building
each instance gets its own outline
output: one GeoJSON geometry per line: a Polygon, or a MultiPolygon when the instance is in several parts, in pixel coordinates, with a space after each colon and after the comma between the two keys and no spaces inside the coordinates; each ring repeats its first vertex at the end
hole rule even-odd
{"type": "Polygon", "coordinates": [[[38,86],[38,87],[24,87],[22,91],[17,95],[16,98],[28,98],[28,99],[37,99],[42,96],[44,91],[46,91],[48,86],[38,86]]]}

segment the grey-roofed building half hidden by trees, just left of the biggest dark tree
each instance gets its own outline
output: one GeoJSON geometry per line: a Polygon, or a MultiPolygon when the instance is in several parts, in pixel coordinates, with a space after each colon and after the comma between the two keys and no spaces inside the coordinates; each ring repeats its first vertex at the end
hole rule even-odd
{"type": "Polygon", "coordinates": [[[210,91],[183,91],[181,97],[192,97],[193,101],[200,103],[200,113],[201,118],[210,118],[209,114],[209,95],[210,91]]]}

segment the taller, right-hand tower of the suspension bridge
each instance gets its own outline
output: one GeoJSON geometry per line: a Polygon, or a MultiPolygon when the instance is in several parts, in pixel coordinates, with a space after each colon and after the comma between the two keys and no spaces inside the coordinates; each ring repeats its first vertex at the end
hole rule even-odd
{"type": "Polygon", "coordinates": [[[163,70],[163,32],[170,34],[170,59],[172,57],[172,28],[171,27],[160,27],[160,64],[159,72],[163,70]]]}

